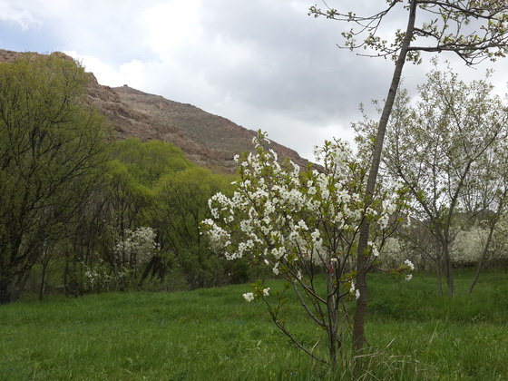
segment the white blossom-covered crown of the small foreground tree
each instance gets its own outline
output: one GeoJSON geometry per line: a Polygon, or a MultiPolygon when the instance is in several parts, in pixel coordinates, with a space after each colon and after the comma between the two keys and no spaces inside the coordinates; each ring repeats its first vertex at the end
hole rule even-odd
{"type": "MultiPolygon", "coordinates": [[[[293,280],[301,281],[312,263],[339,269],[337,279],[350,284],[360,221],[366,218],[376,231],[389,229],[404,205],[401,186],[377,192],[367,208],[366,163],[347,142],[325,142],[316,149],[323,166],[303,171],[292,161],[280,163],[277,153],[266,149],[265,133],[259,132],[254,144],[254,153],[235,158],[240,181],[233,195],[218,193],[209,200],[212,218],[202,227],[210,244],[227,259],[261,259],[275,274],[293,280]]],[[[379,254],[376,239],[367,251],[373,258],[379,254]]]]}

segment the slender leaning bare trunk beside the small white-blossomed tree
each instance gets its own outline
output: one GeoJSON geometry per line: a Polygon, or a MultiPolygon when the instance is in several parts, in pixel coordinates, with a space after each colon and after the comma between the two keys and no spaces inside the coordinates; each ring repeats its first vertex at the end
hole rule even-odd
{"type": "MultiPolygon", "coordinates": [[[[379,171],[379,163],[381,162],[381,153],[383,151],[383,142],[385,140],[386,126],[392,108],[396,100],[396,92],[400,83],[402,75],[402,68],[405,64],[405,57],[407,55],[411,40],[415,33],[415,18],[416,18],[416,0],[411,0],[409,19],[405,31],[404,42],[401,46],[400,53],[396,60],[396,68],[392,77],[392,83],[386,97],[385,107],[381,113],[381,118],[377,126],[376,142],[374,152],[372,155],[372,164],[368,173],[366,183],[366,207],[372,202],[372,197],[376,189],[377,172],[379,171]]],[[[364,218],[360,225],[360,236],[358,239],[358,252],[357,252],[357,289],[360,292],[360,297],[357,298],[357,310],[355,312],[354,326],[353,326],[353,347],[356,351],[363,348],[365,342],[365,320],[366,320],[366,248],[369,236],[369,224],[364,218]]]]}

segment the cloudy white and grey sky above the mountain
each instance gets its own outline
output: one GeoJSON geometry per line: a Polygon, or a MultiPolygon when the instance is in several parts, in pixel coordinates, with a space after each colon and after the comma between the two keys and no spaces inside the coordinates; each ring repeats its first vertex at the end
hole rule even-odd
{"type": "MultiPolygon", "coordinates": [[[[381,10],[369,0],[327,3],[381,10]]],[[[0,48],[64,52],[101,84],[193,104],[312,160],[325,140],[353,140],[360,103],[376,118],[371,101],[386,97],[394,69],[390,60],[339,49],[350,25],[309,16],[315,4],[321,0],[0,0],[0,48]]],[[[404,29],[404,15],[386,20],[384,33],[404,29]]],[[[410,94],[425,83],[433,55],[405,65],[410,94]]],[[[493,67],[496,92],[507,93],[508,59],[476,69],[440,55],[446,59],[465,82],[493,67]]]]}

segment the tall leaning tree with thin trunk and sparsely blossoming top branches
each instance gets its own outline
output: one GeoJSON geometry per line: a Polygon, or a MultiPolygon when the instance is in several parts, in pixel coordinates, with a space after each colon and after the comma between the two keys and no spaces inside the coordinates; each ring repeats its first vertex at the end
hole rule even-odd
{"type": "MultiPolygon", "coordinates": [[[[371,202],[376,189],[386,126],[405,62],[419,64],[422,52],[452,52],[467,65],[478,64],[485,59],[495,60],[508,54],[508,3],[505,1],[386,0],[384,8],[382,5],[379,7],[378,12],[365,16],[337,10],[325,2],[323,7],[315,5],[309,8],[309,15],[325,16],[327,19],[353,25],[342,33],[345,38],[343,47],[352,51],[360,49],[362,55],[390,57],[396,64],[373,142],[373,155],[366,184],[366,205],[371,202]],[[386,18],[396,14],[400,7],[406,12],[405,29],[398,29],[392,41],[385,40],[380,34],[384,32],[386,18]]],[[[402,23],[401,19],[401,26],[404,27],[402,23]]],[[[357,251],[357,288],[360,290],[360,298],[357,299],[353,333],[357,350],[360,350],[365,342],[367,261],[364,253],[368,236],[369,223],[364,219],[357,251]]]]}

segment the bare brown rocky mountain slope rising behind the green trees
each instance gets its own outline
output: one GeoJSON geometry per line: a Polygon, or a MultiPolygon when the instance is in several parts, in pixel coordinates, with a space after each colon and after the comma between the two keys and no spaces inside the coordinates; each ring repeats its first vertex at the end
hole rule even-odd
{"type": "MultiPolygon", "coordinates": [[[[72,60],[63,53],[54,53],[72,60]]],[[[0,50],[0,62],[12,62],[22,53],[0,50]]],[[[88,98],[112,125],[119,139],[140,138],[142,141],[158,139],[172,142],[184,151],[190,161],[201,166],[236,171],[233,157],[242,151],[252,150],[256,132],[230,120],[200,110],[188,103],[167,100],[159,95],[143,93],[124,85],[109,87],[99,84],[89,73],[88,98]]],[[[290,158],[300,166],[308,161],[277,142],[270,147],[280,159],[290,158]]]]}

